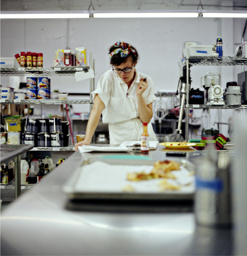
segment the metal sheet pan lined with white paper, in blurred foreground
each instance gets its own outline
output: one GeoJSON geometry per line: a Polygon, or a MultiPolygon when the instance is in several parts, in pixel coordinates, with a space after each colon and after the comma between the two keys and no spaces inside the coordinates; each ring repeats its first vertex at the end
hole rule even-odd
{"type": "Polygon", "coordinates": [[[155,161],[121,161],[110,164],[108,159],[85,162],[77,168],[74,175],[64,186],[69,199],[124,199],[124,200],[181,200],[193,199],[195,193],[195,176],[191,163],[181,165],[181,170],[172,173],[177,180],[168,179],[173,185],[181,185],[179,190],[162,191],[159,183],[163,179],[147,181],[129,181],[127,173],[145,171],[149,173],[155,161]],[[133,191],[128,191],[131,188],[133,191]]]}

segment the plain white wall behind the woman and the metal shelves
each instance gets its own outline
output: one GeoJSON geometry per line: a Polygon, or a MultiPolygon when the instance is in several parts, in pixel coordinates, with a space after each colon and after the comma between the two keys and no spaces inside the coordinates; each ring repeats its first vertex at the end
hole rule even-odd
{"type": "MultiPolygon", "coordinates": [[[[241,43],[244,22],[245,19],[213,18],[2,20],[1,56],[12,57],[21,51],[42,52],[44,67],[50,67],[54,49],[70,47],[73,51],[84,46],[88,57],[92,52],[96,61],[97,85],[100,76],[110,68],[109,47],[123,40],[136,47],[140,55],[136,68],[153,78],[155,91],[176,90],[182,43],[200,41],[212,45],[221,36],[224,56],[233,55],[241,43]]],[[[199,88],[200,77],[208,71],[221,73],[221,85],[225,89],[226,82],[237,81],[237,73],[242,70],[241,67],[195,66],[191,68],[191,87],[199,88]]],[[[54,89],[89,92],[89,81],[76,83],[74,77],[51,77],[51,90],[54,89]]]]}

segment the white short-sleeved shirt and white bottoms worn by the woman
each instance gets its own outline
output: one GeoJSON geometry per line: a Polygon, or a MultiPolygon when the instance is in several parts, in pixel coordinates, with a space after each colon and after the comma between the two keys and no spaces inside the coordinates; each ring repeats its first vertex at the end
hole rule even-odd
{"type": "MultiPolygon", "coordinates": [[[[140,82],[140,78],[147,79],[148,88],[143,93],[146,104],[148,105],[156,100],[152,78],[136,70],[135,72],[135,79],[129,89],[128,85],[116,73],[109,70],[101,76],[97,89],[92,92],[93,98],[98,94],[104,103],[105,108],[102,111],[102,122],[109,123],[111,144],[118,144],[125,140],[140,139],[143,124],[138,118],[136,98],[136,87],[140,82]],[[119,129],[121,130],[120,133],[119,129]],[[134,137],[131,139],[128,137],[130,133],[134,134],[134,137]]],[[[148,128],[149,133],[155,136],[151,123],[148,125],[148,128]]],[[[153,137],[151,140],[156,140],[156,137],[153,137]]]]}

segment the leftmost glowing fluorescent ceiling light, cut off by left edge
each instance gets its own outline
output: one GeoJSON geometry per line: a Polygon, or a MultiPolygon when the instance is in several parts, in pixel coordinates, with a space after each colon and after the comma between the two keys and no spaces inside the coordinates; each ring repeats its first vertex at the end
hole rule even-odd
{"type": "Polygon", "coordinates": [[[1,19],[82,19],[82,18],[90,18],[90,14],[87,13],[79,13],[79,12],[37,12],[37,13],[4,13],[2,12],[0,15],[1,19]]]}

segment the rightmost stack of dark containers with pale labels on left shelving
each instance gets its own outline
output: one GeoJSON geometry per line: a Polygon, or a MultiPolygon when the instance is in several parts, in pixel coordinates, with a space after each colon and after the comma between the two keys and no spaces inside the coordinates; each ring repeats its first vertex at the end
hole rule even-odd
{"type": "Polygon", "coordinates": [[[50,146],[63,147],[63,132],[62,132],[61,118],[50,118],[49,129],[50,129],[50,146]]]}

